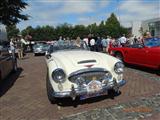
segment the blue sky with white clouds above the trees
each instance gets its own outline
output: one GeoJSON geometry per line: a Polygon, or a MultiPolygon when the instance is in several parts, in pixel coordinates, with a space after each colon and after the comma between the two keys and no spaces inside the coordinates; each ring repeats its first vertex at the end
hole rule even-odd
{"type": "Polygon", "coordinates": [[[160,0],[25,0],[29,6],[23,11],[31,17],[20,22],[21,30],[27,26],[57,26],[99,24],[113,12],[123,26],[133,21],[160,17],[160,0]]]}

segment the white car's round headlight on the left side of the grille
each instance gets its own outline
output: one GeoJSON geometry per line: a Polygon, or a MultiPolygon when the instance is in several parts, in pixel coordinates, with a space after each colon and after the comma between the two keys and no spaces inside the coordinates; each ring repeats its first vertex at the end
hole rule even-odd
{"type": "Polygon", "coordinates": [[[58,68],[52,72],[52,78],[57,83],[63,83],[65,81],[66,74],[62,69],[58,68]]]}

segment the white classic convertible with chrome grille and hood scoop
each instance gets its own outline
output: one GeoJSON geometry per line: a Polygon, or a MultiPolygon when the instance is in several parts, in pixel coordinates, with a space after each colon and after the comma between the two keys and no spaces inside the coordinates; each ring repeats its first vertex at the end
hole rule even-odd
{"type": "Polygon", "coordinates": [[[110,55],[89,51],[81,42],[61,42],[50,45],[46,53],[48,99],[71,97],[87,99],[119,92],[125,85],[123,63],[110,55]]]}

